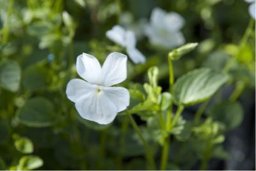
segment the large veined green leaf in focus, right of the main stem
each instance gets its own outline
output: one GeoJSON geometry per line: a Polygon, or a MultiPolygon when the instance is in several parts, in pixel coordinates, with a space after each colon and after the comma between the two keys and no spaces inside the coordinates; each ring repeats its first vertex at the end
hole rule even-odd
{"type": "Polygon", "coordinates": [[[209,68],[200,68],[182,75],[173,85],[177,104],[193,105],[210,98],[227,81],[227,76],[209,68]]]}

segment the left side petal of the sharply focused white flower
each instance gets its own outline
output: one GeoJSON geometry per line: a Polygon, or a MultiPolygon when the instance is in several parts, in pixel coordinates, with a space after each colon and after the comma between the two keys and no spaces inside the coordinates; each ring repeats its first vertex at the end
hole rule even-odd
{"type": "Polygon", "coordinates": [[[89,84],[88,82],[75,78],[68,82],[66,94],[69,100],[76,103],[81,98],[90,96],[96,90],[97,85],[89,84]]]}

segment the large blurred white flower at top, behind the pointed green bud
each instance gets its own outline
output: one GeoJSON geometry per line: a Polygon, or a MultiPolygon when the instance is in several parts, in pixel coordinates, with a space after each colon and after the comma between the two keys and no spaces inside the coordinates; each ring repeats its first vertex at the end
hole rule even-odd
{"type": "Polygon", "coordinates": [[[178,13],[166,13],[161,8],[154,8],[145,34],[152,45],[162,48],[178,47],[185,43],[180,32],[183,26],[184,19],[178,13]]]}

